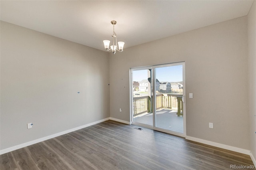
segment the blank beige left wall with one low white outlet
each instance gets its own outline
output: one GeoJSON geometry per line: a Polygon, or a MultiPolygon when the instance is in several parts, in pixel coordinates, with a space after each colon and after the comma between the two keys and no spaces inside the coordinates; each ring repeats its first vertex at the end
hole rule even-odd
{"type": "Polygon", "coordinates": [[[1,150],[110,116],[107,52],[1,22],[0,54],[1,150]]]}

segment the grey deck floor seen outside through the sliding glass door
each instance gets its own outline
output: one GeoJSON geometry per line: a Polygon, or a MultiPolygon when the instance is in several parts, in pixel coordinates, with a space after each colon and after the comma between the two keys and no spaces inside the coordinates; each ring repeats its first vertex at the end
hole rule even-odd
{"type": "MultiPolygon", "coordinates": [[[[178,117],[176,113],[177,111],[170,109],[160,109],[156,111],[156,127],[183,133],[183,117],[178,117]]],[[[148,113],[136,117],[134,118],[134,122],[153,126],[153,114],[148,113]]]]}

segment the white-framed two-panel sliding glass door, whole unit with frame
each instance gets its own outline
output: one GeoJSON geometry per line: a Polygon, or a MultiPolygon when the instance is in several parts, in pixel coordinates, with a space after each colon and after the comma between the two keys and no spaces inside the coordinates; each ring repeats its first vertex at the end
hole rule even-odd
{"type": "Polygon", "coordinates": [[[185,136],[185,63],[131,69],[133,124],[185,136]]]}

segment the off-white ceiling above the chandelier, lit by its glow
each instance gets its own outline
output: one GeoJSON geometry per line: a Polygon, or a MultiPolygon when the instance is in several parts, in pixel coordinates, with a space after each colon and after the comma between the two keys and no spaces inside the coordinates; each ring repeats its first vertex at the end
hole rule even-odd
{"type": "Polygon", "coordinates": [[[0,1],[0,19],[104,50],[113,26],[124,49],[246,16],[252,0],[0,1]]]}

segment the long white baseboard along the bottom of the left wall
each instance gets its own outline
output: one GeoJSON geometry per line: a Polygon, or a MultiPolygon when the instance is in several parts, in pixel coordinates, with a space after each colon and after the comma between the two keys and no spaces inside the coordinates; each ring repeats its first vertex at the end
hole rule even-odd
{"type": "Polygon", "coordinates": [[[32,140],[32,141],[29,141],[29,142],[26,142],[26,143],[23,143],[23,144],[19,144],[19,145],[16,145],[16,146],[12,146],[10,148],[6,148],[6,149],[3,149],[3,150],[0,150],[0,155],[1,154],[5,154],[7,152],[11,152],[13,150],[17,150],[17,149],[20,149],[20,148],[24,148],[26,146],[30,146],[32,144],[36,144],[38,142],[42,142],[44,140],[48,140],[48,139],[51,139],[51,138],[55,138],[57,136],[60,136],[60,135],[63,135],[63,134],[67,134],[67,133],[70,133],[70,132],[74,132],[76,130],[79,130],[81,128],[85,128],[85,127],[89,127],[89,126],[92,126],[92,125],[95,125],[97,123],[101,123],[101,122],[104,122],[104,121],[107,121],[109,120],[110,118],[106,118],[106,119],[102,119],[100,121],[96,121],[96,122],[92,122],[92,123],[88,123],[86,125],[82,125],[80,127],[76,127],[76,128],[72,128],[72,129],[69,129],[69,130],[65,130],[63,132],[59,132],[59,133],[56,133],[56,134],[52,134],[52,135],[49,135],[49,136],[46,136],[46,137],[43,137],[43,138],[39,138],[39,139],[36,139],[36,140],[32,140]]]}

